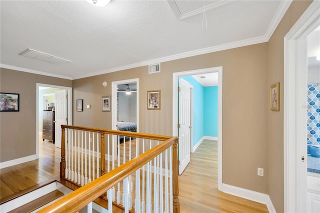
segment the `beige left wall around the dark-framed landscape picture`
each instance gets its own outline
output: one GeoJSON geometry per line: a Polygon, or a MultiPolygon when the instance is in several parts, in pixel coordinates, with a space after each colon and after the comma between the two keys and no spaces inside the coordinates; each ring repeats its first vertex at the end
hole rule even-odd
{"type": "Polygon", "coordinates": [[[72,87],[72,80],[0,68],[0,91],[20,94],[18,112],[0,112],[0,162],[35,154],[36,83],[72,87]]]}

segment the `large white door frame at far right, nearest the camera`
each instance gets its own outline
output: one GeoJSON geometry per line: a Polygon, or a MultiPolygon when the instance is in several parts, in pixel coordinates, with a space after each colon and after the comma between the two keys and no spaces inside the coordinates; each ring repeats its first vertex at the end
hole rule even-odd
{"type": "Polygon", "coordinates": [[[306,212],[307,35],[320,23],[313,1],[284,36],[283,159],[284,212],[306,212]]]}

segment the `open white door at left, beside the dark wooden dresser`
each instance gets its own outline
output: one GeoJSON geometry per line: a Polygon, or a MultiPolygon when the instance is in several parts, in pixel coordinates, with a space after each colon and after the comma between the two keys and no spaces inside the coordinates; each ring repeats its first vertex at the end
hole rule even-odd
{"type": "Polygon", "coordinates": [[[54,92],[55,106],[55,146],[61,148],[61,125],[66,124],[67,101],[66,90],[57,90],[54,92]]]}

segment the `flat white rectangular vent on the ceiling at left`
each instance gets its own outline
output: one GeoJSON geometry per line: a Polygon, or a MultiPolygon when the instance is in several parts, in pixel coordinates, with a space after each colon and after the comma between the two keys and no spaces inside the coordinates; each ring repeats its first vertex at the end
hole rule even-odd
{"type": "Polygon", "coordinates": [[[25,56],[25,57],[29,57],[32,59],[36,59],[36,60],[42,60],[48,63],[54,63],[54,64],[64,64],[64,63],[69,63],[72,62],[71,60],[67,60],[61,57],[57,57],[54,55],[50,55],[44,52],[40,52],[34,49],[25,49],[24,51],[20,52],[19,55],[25,56]]]}

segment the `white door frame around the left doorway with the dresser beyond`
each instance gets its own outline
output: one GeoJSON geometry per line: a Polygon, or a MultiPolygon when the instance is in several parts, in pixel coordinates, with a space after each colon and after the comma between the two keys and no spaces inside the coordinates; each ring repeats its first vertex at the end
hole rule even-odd
{"type": "Polygon", "coordinates": [[[35,103],[35,157],[39,158],[39,86],[51,87],[51,88],[60,88],[67,90],[68,100],[67,100],[67,117],[68,117],[68,125],[72,125],[72,87],[68,86],[59,86],[59,85],[51,85],[45,83],[36,83],[36,103],[35,103]]]}

